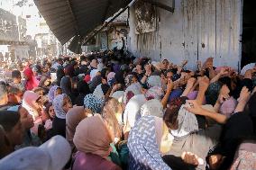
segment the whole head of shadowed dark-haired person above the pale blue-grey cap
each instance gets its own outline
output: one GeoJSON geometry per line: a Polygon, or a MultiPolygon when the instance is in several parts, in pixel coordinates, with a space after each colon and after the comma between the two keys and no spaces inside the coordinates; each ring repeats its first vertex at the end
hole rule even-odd
{"type": "Polygon", "coordinates": [[[6,137],[13,147],[23,143],[23,126],[18,112],[1,111],[0,124],[3,126],[6,137]]]}

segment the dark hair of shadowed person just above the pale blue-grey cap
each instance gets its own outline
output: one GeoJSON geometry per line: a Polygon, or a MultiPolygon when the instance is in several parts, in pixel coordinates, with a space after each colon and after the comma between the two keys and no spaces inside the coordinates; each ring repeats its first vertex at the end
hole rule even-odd
{"type": "Polygon", "coordinates": [[[13,130],[14,126],[20,121],[19,112],[0,111],[0,124],[5,131],[13,130]]]}

